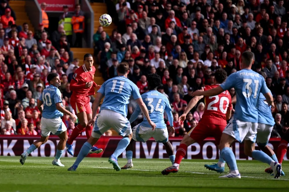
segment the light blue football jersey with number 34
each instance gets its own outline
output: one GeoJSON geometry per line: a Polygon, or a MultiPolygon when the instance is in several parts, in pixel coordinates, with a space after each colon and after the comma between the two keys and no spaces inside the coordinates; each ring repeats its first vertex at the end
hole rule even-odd
{"type": "MultiPolygon", "coordinates": [[[[172,108],[168,98],[156,90],[151,90],[142,94],[142,101],[147,106],[149,118],[155,123],[156,128],[166,129],[166,124],[164,123],[164,111],[166,111],[166,113],[172,113],[172,108]]],[[[136,106],[136,111],[140,112],[139,105],[136,106]]],[[[151,127],[145,117],[140,125],[151,127]]]]}

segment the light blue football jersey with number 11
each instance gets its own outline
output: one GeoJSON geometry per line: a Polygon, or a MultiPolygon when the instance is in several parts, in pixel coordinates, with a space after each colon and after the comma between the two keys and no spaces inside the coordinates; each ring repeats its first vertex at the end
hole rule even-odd
{"type": "Polygon", "coordinates": [[[130,96],[140,98],[140,91],[136,84],[124,76],[117,76],[105,81],[97,91],[105,96],[100,111],[109,109],[127,116],[127,104],[130,96]]]}

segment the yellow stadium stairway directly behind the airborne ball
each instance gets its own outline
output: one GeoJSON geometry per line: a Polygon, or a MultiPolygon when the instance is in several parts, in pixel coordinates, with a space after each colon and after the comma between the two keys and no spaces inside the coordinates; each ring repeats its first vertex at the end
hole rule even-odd
{"type": "MultiPolygon", "coordinates": [[[[108,11],[105,3],[90,3],[90,5],[94,12],[94,33],[96,33],[98,26],[100,25],[99,17],[103,14],[108,13],[108,11]]],[[[112,22],[110,26],[104,27],[103,29],[106,33],[108,33],[108,35],[111,35],[112,31],[116,28],[116,25],[112,22]]]]}

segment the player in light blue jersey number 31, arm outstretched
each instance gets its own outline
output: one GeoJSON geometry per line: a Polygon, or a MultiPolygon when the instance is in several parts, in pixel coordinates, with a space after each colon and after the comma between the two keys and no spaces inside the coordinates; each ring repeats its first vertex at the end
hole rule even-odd
{"type": "Polygon", "coordinates": [[[279,178],[281,174],[281,165],[272,160],[263,151],[255,150],[255,135],[258,126],[258,111],[256,109],[258,98],[262,93],[268,105],[273,105],[273,97],[267,88],[264,78],[251,70],[254,63],[254,54],[245,51],[242,54],[242,70],[232,73],[227,80],[220,86],[208,91],[196,91],[193,96],[214,96],[224,90],[235,88],[236,92],[236,109],[233,118],[229,121],[223,131],[219,144],[220,154],[227,161],[231,172],[220,178],[241,178],[238,171],[236,158],[230,145],[236,140],[244,140],[244,153],[249,157],[269,164],[274,171],[274,178],[279,178]]]}

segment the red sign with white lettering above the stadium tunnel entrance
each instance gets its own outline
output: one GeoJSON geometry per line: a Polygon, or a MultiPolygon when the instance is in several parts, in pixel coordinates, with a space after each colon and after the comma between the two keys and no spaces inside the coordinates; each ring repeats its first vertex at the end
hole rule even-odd
{"type": "Polygon", "coordinates": [[[45,11],[63,11],[63,6],[68,6],[68,11],[74,11],[75,6],[75,0],[37,0],[39,3],[39,6],[41,3],[45,2],[47,4],[47,8],[45,11]]]}

